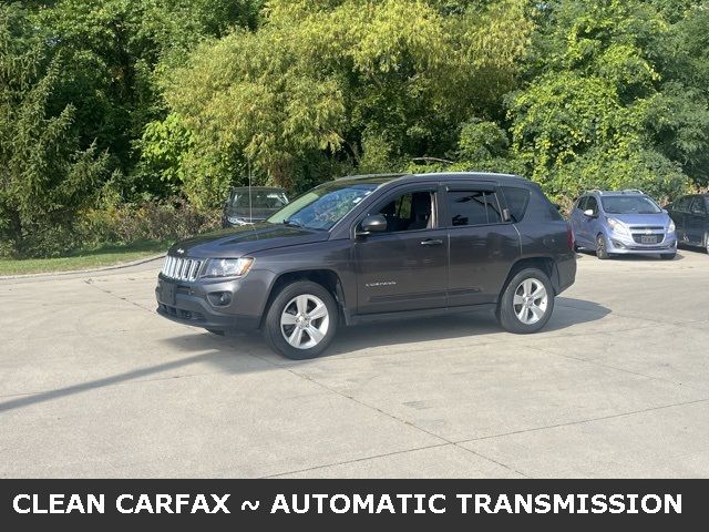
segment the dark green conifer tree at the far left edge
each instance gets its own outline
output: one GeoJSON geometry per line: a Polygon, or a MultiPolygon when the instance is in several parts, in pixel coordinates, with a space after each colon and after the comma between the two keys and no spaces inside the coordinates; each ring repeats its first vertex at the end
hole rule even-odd
{"type": "Polygon", "coordinates": [[[71,246],[75,213],[107,177],[106,155],[81,150],[74,108],[50,109],[59,61],[27,13],[0,7],[0,241],[3,253],[47,255],[71,246]]]}

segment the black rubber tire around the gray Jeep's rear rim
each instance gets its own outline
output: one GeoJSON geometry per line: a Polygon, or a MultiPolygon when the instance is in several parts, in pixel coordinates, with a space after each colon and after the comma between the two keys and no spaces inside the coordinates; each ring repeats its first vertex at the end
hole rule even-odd
{"type": "Polygon", "coordinates": [[[505,289],[502,291],[500,303],[497,304],[496,316],[500,320],[500,325],[505,330],[516,335],[528,335],[544,328],[552,317],[552,313],[554,313],[554,287],[552,286],[549,278],[541,269],[527,268],[517,273],[505,286],[505,289]],[[517,310],[521,310],[521,306],[515,305],[515,295],[522,287],[522,284],[527,279],[541,283],[547,295],[544,315],[538,319],[538,321],[533,324],[524,323],[517,316],[517,310]]]}

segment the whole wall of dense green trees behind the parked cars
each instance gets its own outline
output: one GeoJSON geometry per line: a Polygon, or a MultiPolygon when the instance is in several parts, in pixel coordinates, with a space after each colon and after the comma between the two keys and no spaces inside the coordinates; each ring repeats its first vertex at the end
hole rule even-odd
{"type": "Polygon", "coordinates": [[[707,0],[4,3],[0,253],[209,219],[249,175],[485,170],[566,204],[668,200],[709,183],[708,28],[707,0]]]}

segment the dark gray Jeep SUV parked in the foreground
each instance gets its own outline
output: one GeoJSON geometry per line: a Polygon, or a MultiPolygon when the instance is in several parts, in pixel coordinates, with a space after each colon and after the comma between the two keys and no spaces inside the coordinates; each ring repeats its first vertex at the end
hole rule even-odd
{"type": "Polygon", "coordinates": [[[320,355],[341,325],[475,309],[546,325],[576,275],[571,228],[541,188],[497,174],[369,175],[322,184],[266,222],[175,244],[157,311],[213,332],[263,329],[320,355]]]}

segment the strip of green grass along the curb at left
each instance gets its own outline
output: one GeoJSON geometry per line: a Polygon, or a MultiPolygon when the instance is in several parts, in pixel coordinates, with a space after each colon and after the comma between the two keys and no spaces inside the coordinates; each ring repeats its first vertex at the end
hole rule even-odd
{"type": "Polygon", "coordinates": [[[142,241],[127,245],[104,244],[56,258],[0,258],[0,275],[45,274],[115,266],[167,252],[172,242],[142,241]]]}

